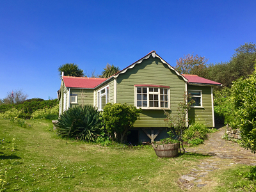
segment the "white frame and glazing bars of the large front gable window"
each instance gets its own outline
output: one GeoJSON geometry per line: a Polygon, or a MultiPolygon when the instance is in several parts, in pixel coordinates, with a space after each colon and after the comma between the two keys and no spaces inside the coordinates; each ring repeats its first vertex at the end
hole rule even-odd
{"type": "MultiPolygon", "coordinates": [[[[143,93],[141,93],[143,95],[143,93]]],[[[141,99],[142,101],[143,99],[141,99]]],[[[162,87],[162,86],[134,86],[134,106],[136,106],[136,108],[141,108],[141,109],[171,109],[171,103],[170,103],[170,88],[167,87],[162,87]],[[138,97],[138,93],[137,93],[137,89],[138,88],[147,88],[147,107],[143,107],[143,104],[141,104],[142,106],[137,106],[137,97],[138,97]],[[149,92],[149,88],[158,88],[158,92],[149,92]],[[161,93],[160,93],[160,89],[164,89],[167,90],[167,97],[168,97],[168,108],[161,108],[161,93]],[[150,99],[149,99],[149,95],[158,95],[158,106],[159,107],[150,107],[150,99]]]]}

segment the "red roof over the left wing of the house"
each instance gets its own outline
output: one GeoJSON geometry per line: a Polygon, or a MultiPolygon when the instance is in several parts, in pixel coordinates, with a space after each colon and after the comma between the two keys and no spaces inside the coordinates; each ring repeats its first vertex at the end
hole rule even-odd
{"type": "Polygon", "coordinates": [[[70,88],[95,88],[105,80],[105,78],[63,76],[65,86],[70,88]]]}

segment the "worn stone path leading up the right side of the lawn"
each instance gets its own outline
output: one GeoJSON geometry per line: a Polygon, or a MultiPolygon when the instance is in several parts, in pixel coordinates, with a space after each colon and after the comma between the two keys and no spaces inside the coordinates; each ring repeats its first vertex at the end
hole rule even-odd
{"type": "Polygon", "coordinates": [[[209,134],[209,139],[205,140],[203,145],[188,148],[188,152],[210,155],[211,157],[197,164],[197,168],[191,168],[188,174],[182,175],[178,181],[180,188],[191,189],[206,186],[207,180],[204,178],[209,172],[214,172],[223,166],[240,163],[256,166],[256,154],[253,154],[251,150],[244,150],[237,143],[221,139],[225,131],[226,127],[221,127],[218,132],[209,134]]]}

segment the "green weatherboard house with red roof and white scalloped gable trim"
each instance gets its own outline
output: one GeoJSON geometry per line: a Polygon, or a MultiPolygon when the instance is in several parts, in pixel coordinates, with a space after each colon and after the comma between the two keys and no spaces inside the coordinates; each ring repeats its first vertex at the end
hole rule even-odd
{"type": "Polygon", "coordinates": [[[195,106],[189,122],[214,127],[212,90],[220,83],[193,75],[179,74],[156,51],[151,51],[108,79],[63,76],[58,95],[60,115],[68,108],[91,104],[104,110],[108,102],[127,103],[143,109],[127,141],[152,142],[167,137],[164,110],[176,113],[185,92],[195,106]]]}

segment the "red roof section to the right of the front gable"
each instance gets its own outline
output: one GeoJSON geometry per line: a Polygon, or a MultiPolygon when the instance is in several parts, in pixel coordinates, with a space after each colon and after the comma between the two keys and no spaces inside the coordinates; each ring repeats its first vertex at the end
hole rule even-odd
{"type": "Polygon", "coordinates": [[[184,74],[182,75],[188,79],[188,84],[195,84],[195,85],[211,85],[211,86],[221,86],[221,83],[218,83],[216,81],[211,81],[209,79],[205,79],[203,77],[199,77],[196,75],[188,75],[184,74]]]}

